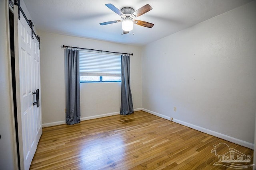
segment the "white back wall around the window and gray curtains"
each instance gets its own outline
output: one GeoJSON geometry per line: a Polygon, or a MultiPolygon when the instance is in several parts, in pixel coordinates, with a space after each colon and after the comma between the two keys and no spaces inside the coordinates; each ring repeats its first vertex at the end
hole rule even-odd
{"type": "MultiPolygon", "coordinates": [[[[39,31],[41,56],[42,123],[44,126],[65,123],[65,72],[62,45],[134,53],[131,59],[131,88],[134,109],[142,106],[141,47],[109,43],[39,31]]],[[[81,118],[101,117],[120,112],[121,83],[80,84],[81,118]]]]}

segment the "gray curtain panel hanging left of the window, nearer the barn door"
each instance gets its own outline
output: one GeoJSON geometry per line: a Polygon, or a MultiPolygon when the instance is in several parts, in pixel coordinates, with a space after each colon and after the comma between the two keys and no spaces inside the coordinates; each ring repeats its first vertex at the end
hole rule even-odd
{"type": "Polygon", "coordinates": [[[66,49],[66,123],[80,123],[79,50],[66,49]]]}

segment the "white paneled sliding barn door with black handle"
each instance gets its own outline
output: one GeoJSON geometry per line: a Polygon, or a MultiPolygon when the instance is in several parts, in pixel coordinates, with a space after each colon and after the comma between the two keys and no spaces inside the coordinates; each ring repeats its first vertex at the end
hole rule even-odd
{"type": "Polygon", "coordinates": [[[15,70],[20,166],[28,170],[42,135],[40,50],[24,16],[14,9],[15,70]]]}

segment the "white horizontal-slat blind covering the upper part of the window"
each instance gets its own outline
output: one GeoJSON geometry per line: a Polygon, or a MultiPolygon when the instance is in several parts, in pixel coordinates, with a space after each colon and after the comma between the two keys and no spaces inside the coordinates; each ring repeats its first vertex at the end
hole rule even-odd
{"type": "Polygon", "coordinates": [[[80,76],[121,76],[121,56],[80,51],[80,76]]]}

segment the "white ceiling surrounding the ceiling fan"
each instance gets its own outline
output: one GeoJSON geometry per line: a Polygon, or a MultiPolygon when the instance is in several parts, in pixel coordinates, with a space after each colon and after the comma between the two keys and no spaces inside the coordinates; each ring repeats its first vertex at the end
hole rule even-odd
{"type": "Polygon", "coordinates": [[[40,31],[73,35],[117,43],[143,46],[172,33],[218,16],[252,0],[24,0],[32,21],[40,31]],[[150,4],[152,10],[137,20],[154,23],[152,28],[134,24],[134,30],[122,35],[122,23],[105,4],[118,9],[138,10],[150,4]],[[134,35],[133,35],[134,34],[134,35]]]}

